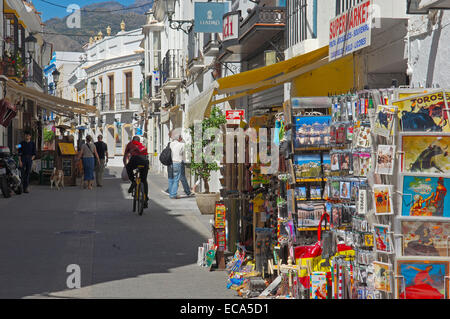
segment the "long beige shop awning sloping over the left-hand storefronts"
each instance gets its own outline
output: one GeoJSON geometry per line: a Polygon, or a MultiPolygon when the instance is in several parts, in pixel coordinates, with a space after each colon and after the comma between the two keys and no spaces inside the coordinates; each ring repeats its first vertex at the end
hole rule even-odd
{"type": "Polygon", "coordinates": [[[26,97],[30,100],[34,100],[41,108],[48,109],[62,115],[87,115],[88,113],[97,112],[97,108],[95,106],[48,95],[35,89],[21,86],[9,79],[6,81],[6,90],[12,91],[17,95],[26,97]]]}

